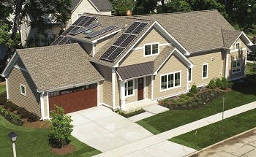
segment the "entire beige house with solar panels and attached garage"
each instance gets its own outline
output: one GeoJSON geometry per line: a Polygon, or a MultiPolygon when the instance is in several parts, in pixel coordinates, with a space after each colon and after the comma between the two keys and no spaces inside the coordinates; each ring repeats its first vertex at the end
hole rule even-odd
{"type": "Polygon", "coordinates": [[[1,74],[10,101],[50,116],[105,105],[127,110],[245,77],[252,42],[217,10],[115,17],[83,14],[49,47],[17,50],[1,74]]]}

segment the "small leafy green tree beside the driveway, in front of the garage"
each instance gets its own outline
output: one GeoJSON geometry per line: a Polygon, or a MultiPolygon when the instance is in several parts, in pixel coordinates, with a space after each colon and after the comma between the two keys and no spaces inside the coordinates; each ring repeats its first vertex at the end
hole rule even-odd
{"type": "Polygon", "coordinates": [[[50,127],[49,142],[53,148],[63,148],[69,143],[72,128],[71,116],[66,115],[61,107],[56,106],[56,110],[50,112],[52,126],[50,127]]]}

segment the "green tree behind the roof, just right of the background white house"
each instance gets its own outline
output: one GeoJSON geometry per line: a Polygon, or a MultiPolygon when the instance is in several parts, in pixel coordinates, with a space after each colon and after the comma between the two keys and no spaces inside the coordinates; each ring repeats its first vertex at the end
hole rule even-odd
{"type": "Polygon", "coordinates": [[[127,10],[132,11],[134,7],[134,0],[113,0],[113,9],[116,15],[126,15],[127,10]]]}

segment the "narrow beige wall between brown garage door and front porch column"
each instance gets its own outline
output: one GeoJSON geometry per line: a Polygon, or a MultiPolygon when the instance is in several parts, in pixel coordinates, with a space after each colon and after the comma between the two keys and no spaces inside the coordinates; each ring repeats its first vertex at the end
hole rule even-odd
{"type": "Polygon", "coordinates": [[[112,106],[112,75],[111,75],[111,69],[107,66],[102,66],[97,64],[97,70],[100,74],[102,74],[103,77],[105,77],[105,80],[102,83],[102,102],[105,104],[108,104],[112,106]]]}

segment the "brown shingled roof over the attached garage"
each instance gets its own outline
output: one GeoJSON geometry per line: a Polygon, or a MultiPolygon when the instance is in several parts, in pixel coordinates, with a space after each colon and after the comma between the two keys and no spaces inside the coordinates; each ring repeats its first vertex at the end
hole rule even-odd
{"type": "Polygon", "coordinates": [[[78,44],[20,49],[17,54],[38,92],[104,80],[78,44]]]}

